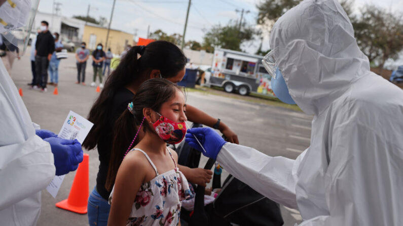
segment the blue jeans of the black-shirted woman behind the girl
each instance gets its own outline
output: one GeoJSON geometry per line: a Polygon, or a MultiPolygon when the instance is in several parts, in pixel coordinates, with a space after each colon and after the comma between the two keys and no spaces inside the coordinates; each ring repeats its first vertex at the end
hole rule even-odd
{"type": "Polygon", "coordinates": [[[109,211],[111,205],[108,201],[103,199],[96,187],[92,190],[90,197],[88,197],[88,222],[91,226],[106,226],[108,223],[109,211]]]}

